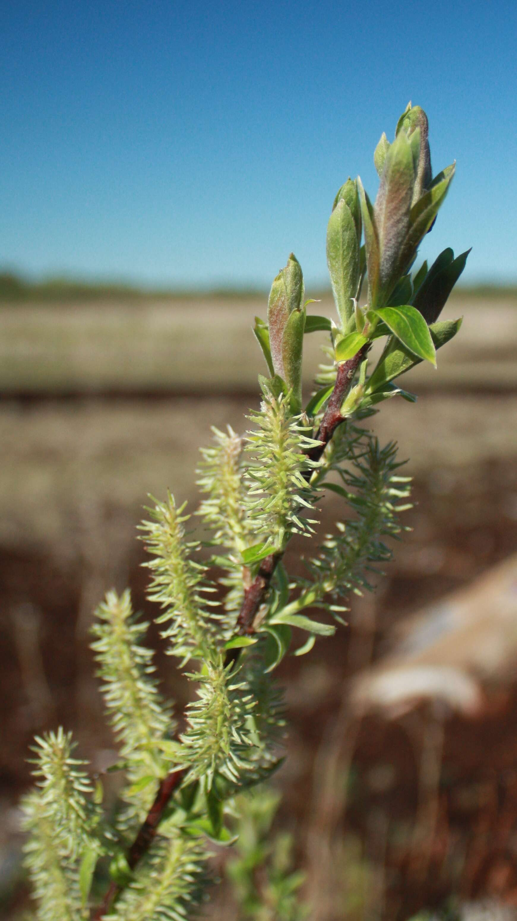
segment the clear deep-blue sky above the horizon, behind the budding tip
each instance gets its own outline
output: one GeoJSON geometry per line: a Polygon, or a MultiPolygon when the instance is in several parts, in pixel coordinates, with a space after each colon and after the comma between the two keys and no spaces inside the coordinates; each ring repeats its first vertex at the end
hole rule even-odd
{"type": "Polygon", "coordinates": [[[517,5],[17,0],[2,5],[0,265],[267,286],[408,99],[457,174],[425,254],[517,280],[517,5]]]}

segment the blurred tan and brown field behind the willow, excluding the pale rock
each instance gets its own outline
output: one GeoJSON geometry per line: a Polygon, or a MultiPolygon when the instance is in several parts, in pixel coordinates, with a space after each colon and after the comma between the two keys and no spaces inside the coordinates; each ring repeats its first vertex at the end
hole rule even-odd
{"type": "MultiPolygon", "coordinates": [[[[311,309],[334,310],[325,298],[311,309]]],[[[128,584],[150,614],[135,525],[147,494],[167,487],[194,511],[210,426],[246,426],[264,370],[251,327],[264,312],[265,298],[250,297],[0,306],[6,917],[24,904],[17,801],[30,740],[63,723],[94,770],[114,760],[88,652],[92,611],[128,584]]],[[[278,825],[296,835],[313,921],[406,921],[451,893],[517,903],[517,681],[470,723],[415,710],[359,726],[347,706],[353,676],[390,649],[396,624],[517,552],[517,299],[458,296],[445,313],[464,325],[438,372],[405,377],[417,405],[386,402],[371,421],[410,458],[413,530],[376,595],[353,602],[349,626],[279,670],[291,725],[278,825]]],[[[307,396],[322,342],[306,338],[307,396]]],[[[322,529],[339,514],[323,502],[322,529]]],[[[188,689],[162,652],[159,670],[182,707],[188,689]]],[[[225,898],[213,917],[233,916],[225,898]]]]}

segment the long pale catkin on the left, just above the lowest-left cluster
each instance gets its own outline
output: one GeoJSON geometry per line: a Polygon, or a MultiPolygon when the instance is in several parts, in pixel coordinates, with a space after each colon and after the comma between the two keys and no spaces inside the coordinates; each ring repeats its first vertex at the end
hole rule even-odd
{"type": "MultiPolygon", "coordinates": [[[[166,762],[159,743],[170,736],[174,725],[170,705],[163,702],[152,677],[153,651],[140,643],[148,624],[137,620],[128,589],[120,596],[109,591],[96,616],[92,633],[97,638],[91,647],[99,663],[101,692],[127,764],[128,779],[135,783],[147,775],[160,778],[166,772],[166,762]]],[[[153,796],[154,787],[149,787],[131,799],[135,807],[147,810],[153,796]]]]}

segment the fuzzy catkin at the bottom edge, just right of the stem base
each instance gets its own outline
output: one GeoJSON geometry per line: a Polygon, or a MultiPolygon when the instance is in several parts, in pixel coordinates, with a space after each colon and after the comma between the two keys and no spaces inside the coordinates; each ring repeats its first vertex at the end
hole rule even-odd
{"type": "Polygon", "coordinates": [[[112,921],[185,921],[203,897],[206,851],[180,833],[155,843],[112,921]]]}

